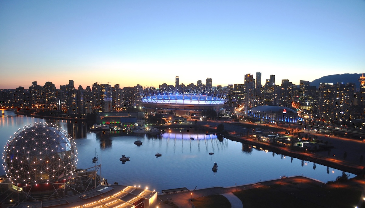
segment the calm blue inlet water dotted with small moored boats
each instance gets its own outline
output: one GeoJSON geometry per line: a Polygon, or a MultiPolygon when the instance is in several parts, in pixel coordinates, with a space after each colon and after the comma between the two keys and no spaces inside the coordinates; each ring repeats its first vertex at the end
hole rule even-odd
{"type": "MultiPolygon", "coordinates": [[[[78,149],[78,168],[93,167],[95,148],[102,165],[101,176],[109,183],[163,189],[188,189],[212,186],[235,186],[279,178],[282,175],[301,175],[323,182],[335,180],[342,171],[296,158],[255,149],[251,145],[207,135],[197,129],[167,129],[161,138],[116,132],[89,132],[84,122],[44,120],[15,116],[5,111],[0,117],[0,143],[34,122],[49,122],[68,131],[78,149]],[[12,115],[12,117],[7,117],[12,115]],[[193,137],[194,140],[190,138],[193,137]],[[143,145],[134,141],[140,139],[143,145]],[[155,153],[162,153],[155,157],[155,153]],[[209,155],[214,152],[214,155],[209,155]],[[122,155],[130,157],[124,164],[122,155]],[[216,173],[212,171],[218,164],[216,173]],[[334,171],[334,173],[332,173],[334,171]]],[[[5,174],[1,170],[1,175],[5,174]]],[[[350,177],[353,177],[350,174],[350,177]]]]}

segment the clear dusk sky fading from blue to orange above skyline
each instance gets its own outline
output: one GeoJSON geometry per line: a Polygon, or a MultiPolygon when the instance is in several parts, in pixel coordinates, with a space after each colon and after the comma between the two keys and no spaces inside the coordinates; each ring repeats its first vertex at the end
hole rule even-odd
{"type": "Polygon", "coordinates": [[[362,73],[364,11],[365,0],[3,0],[0,88],[362,73]]]}

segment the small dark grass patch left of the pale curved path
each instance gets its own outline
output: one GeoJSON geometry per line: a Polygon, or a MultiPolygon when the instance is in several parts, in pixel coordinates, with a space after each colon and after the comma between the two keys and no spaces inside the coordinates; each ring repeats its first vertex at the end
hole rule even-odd
{"type": "Polygon", "coordinates": [[[195,208],[231,208],[228,199],[219,194],[193,198],[192,201],[195,208]]]}

